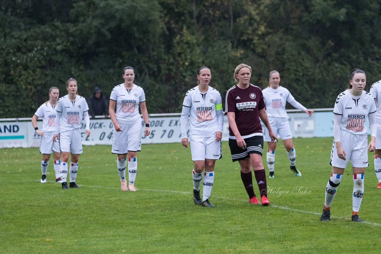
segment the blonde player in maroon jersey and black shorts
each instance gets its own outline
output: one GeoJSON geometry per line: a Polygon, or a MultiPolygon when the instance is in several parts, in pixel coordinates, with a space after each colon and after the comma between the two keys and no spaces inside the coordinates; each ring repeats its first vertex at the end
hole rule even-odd
{"type": "Polygon", "coordinates": [[[267,118],[263,94],[258,86],[250,84],[251,67],[240,64],[235,67],[234,79],[237,85],[226,93],[225,111],[229,121],[229,147],[233,161],[239,161],[241,179],[249,195],[249,202],[260,204],[253,188],[251,168],[254,170],[256,182],[263,206],[270,204],[267,199],[266,171],[262,163],[263,134],[259,118],[269,131],[271,141],[278,141],[271,130],[267,118]]]}

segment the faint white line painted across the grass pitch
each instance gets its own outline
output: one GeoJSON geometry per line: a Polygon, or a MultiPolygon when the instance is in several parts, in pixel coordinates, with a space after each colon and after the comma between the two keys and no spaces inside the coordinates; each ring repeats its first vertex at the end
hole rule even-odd
{"type": "MultiPolygon", "coordinates": [[[[22,181],[31,182],[31,181],[40,181],[40,180],[22,180],[22,181]]],[[[13,182],[20,182],[20,181],[13,181],[13,182]]],[[[55,183],[53,181],[46,181],[46,182],[55,183]]],[[[79,186],[83,186],[83,187],[93,187],[93,188],[119,189],[118,187],[106,187],[106,186],[100,186],[100,185],[82,185],[82,184],[78,184],[78,185],[79,186]]],[[[191,195],[192,194],[192,192],[180,192],[178,190],[155,190],[155,189],[141,189],[141,190],[145,190],[145,191],[148,191],[148,192],[171,192],[171,193],[181,193],[181,194],[187,194],[187,195],[191,195]]],[[[228,197],[224,197],[224,196],[213,196],[213,197],[220,198],[220,199],[226,199],[226,200],[234,200],[234,201],[247,202],[247,200],[237,199],[237,198],[228,198],[228,197]]],[[[270,206],[274,207],[274,208],[282,209],[282,210],[293,211],[293,212],[302,212],[302,213],[306,213],[306,214],[321,215],[319,212],[311,212],[311,211],[299,210],[299,209],[294,209],[294,208],[290,208],[290,207],[287,207],[287,206],[277,206],[275,204],[271,204],[270,206]]],[[[345,219],[344,217],[338,217],[338,216],[331,216],[331,218],[335,218],[335,219],[339,219],[339,220],[345,219]]],[[[381,227],[381,224],[376,223],[376,222],[363,221],[363,223],[369,224],[369,225],[373,225],[373,226],[381,227]]]]}

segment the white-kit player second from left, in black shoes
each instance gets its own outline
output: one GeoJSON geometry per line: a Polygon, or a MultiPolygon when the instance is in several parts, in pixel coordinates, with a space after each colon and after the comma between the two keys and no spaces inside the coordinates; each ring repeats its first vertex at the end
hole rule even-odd
{"type": "Polygon", "coordinates": [[[78,172],[78,158],[82,153],[82,137],[81,123],[82,118],[85,120],[86,137],[90,136],[90,118],[89,107],[86,99],[77,93],[77,80],[69,78],[66,82],[68,94],[59,98],[56,111],[56,129],[54,131],[53,141],[59,142],[61,149],[61,178],[62,189],[79,188],[75,184],[78,172]],[[69,152],[71,152],[71,160],[69,167],[70,184],[67,186],[67,161],[69,160],[69,152]]]}

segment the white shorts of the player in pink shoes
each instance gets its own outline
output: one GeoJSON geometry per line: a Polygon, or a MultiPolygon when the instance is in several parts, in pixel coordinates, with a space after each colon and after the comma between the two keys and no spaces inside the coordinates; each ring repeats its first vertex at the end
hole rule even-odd
{"type": "Polygon", "coordinates": [[[142,122],[119,123],[122,131],[112,129],[112,148],[111,153],[125,154],[138,152],[141,150],[142,122]]]}

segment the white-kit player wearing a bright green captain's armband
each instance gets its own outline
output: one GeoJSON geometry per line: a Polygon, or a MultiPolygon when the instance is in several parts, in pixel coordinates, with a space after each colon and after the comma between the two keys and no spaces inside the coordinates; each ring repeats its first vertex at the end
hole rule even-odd
{"type": "Polygon", "coordinates": [[[224,124],[222,99],[219,92],[209,86],[211,73],[208,67],[197,71],[197,86],[187,91],[181,112],[181,144],[188,148],[187,124],[190,116],[189,139],[194,169],[193,201],[214,207],[209,197],[213,187],[216,160],[222,158],[221,139],[224,124]],[[202,181],[202,199],[200,183],[202,181]]]}

